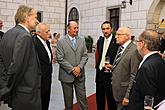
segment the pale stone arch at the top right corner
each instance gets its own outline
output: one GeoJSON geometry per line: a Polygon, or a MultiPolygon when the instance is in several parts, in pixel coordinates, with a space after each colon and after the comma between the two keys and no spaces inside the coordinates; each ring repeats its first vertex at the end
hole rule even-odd
{"type": "Polygon", "coordinates": [[[147,15],[147,29],[157,29],[160,13],[165,5],[165,0],[153,0],[147,15]]]}

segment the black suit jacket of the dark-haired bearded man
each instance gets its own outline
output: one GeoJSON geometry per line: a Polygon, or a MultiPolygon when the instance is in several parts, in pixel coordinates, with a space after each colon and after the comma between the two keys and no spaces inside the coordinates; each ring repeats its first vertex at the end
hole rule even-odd
{"type": "MultiPolygon", "coordinates": [[[[96,48],[96,82],[100,81],[108,81],[111,82],[111,74],[107,77],[107,75],[100,74],[99,65],[102,59],[102,53],[103,53],[103,46],[104,46],[104,37],[100,36],[100,38],[97,41],[97,48],[96,48]]],[[[109,44],[108,50],[106,52],[106,56],[110,58],[110,64],[113,64],[113,61],[115,59],[117,50],[119,45],[116,44],[115,35],[112,35],[111,42],[109,44]]]]}

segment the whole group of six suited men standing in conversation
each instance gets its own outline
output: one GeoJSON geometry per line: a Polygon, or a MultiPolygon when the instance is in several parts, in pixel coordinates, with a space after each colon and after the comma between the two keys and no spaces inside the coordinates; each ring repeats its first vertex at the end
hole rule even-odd
{"type": "MultiPolygon", "coordinates": [[[[16,26],[0,42],[0,96],[6,95],[12,110],[48,110],[52,51],[49,26],[38,23],[35,9],[20,6],[16,26]],[[31,30],[36,29],[32,37],[31,30]]],[[[59,80],[65,109],[72,110],[73,88],[80,110],[88,110],[85,69],[88,61],[85,41],[78,37],[78,23],[70,21],[68,33],[57,44],[59,80]]],[[[96,102],[98,110],[144,110],[144,97],[154,97],[154,106],[165,99],[165,61],[159,53],[160,39],[153,30],[145,30],[131,40],[131,30],[112,24],[101,25],[103,36],[96,49],[96,102]],[[136,45],[135,45],[135,43],[136,45]],[[109,57],[109,64],[105,64],[109,57]],[[108,72],[107,72],[108,71],[108,72]]]]}

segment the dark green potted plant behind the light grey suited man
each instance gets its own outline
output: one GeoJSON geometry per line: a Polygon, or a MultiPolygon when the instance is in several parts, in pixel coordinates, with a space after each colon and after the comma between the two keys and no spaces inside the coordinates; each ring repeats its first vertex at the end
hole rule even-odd
{"type": "Polygon", "coordinates": [[[85,37],[85,42],[86,42],[88,53],[91,53],[92,47],[93,47],[93,38],[90,35],[88,35],[87,37],[85,37]]]}

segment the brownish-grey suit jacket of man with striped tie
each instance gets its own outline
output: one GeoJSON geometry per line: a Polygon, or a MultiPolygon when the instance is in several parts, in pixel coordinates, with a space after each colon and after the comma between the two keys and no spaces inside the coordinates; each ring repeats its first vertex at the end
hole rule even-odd
{"type": "Polygon", "coordinates": [[[116,67],[112,70],[112,90],[114,99],[117,102],[122,101],[124,97],[129,98],[140,61],[141,57],[138,54],[136,45],[131,41],[122,53],[116,67]]]}

